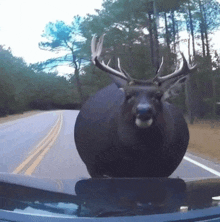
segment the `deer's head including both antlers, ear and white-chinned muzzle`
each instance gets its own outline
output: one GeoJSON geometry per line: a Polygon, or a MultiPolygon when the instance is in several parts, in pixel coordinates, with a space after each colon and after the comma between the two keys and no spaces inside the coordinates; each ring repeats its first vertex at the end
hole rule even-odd
{"type": "Polygon", "coordinates": [[[94,36],[91,42],[92,62],[99,69],[107,72],[115,84],[124,92],[124,104],[121,118],[124,121],[133,123],[139,128],[148,128],[155,123],[158,115],[162,111],[163,101],[176,96],[182,84],[187,79],[187,75],[196,70],[196,66],[189,67],[182,55],[182,65],[180,68],[166,76],[162,76],[163,59],[156,76],[149,80],[137,80],[132,78],[120,64],[118,59],[118,70],[115,70],[99,61],[102,52],[104,35],[96,44],[94,36]]]}

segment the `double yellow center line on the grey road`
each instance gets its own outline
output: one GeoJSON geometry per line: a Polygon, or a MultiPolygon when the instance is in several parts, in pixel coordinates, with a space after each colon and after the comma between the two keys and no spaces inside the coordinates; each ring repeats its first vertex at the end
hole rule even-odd
{"type": "Polygon", "coordinates": [[[47,136],[36,146],[36,148],[30,153],[30,155],[13,171],[13,173],[24,173],[25,175],[31,175],[36,167],[43,160],[47,152],[51,149],[56,141],[61,127],[63,124],[63,115],[59,114],[59,117],[49,131],[47,136]]]}

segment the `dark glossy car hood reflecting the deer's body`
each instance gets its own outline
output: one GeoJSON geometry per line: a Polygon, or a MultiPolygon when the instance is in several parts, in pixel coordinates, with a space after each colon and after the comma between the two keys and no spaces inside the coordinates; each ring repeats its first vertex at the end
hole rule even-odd
{"type": "Polygon", "coordinates": [[[11,211],[31,206],[65,214],[57,207],[62,202],[74,204],[68,212],[79,217],[152,215],[218,207],[216,196],[220,196],[220,179],[53,180],[0,174],[0,207],[11,211]]]}

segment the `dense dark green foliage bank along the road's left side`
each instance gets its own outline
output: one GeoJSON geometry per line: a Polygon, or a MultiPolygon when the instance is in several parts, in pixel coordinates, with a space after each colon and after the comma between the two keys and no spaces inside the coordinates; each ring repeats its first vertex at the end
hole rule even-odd
{"type": "Polygon", "coordinates": [[[55,73],[34,72],[21,58],[0,47],[0,116],[30,109],[73,104],[71,84],[55,73]],[[33,106],[38,101],[38,106],[33,106]],[[49,106],[50,105],[50,106],[49,106]]]}

